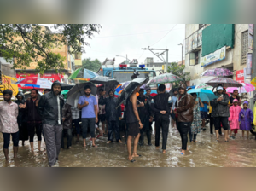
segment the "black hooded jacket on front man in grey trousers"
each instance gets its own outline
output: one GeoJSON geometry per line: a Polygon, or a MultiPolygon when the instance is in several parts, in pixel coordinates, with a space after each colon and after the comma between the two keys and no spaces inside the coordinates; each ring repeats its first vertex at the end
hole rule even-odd
{"type": "MultiPolygon", "coordinates": [[[[64,99],[63,96],[60,94],[55,96],[53,87],[58,84],[61,86],[59,81],[55,81],[51,86],[51,91],[47,94],[44,94],[39,103],[38,103],[38,114],[40,115],[43,124],[51,124],[56,125],[58,124],[58,120],[62,122],[62,107],[64,106],[64,99]],[[58,108],[58,101],[57,97],[60,99],[60,108],[58,108]],[[58,113],[60,112],[60,119],[58,113]]],[[[62,90],[62,88],[61,88],[62,90]]]]}

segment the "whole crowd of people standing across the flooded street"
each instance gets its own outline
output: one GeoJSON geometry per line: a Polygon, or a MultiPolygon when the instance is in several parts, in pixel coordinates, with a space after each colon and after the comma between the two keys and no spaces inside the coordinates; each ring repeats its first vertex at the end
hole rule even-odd
{"type": "MultiPolygon", "coordinates": [[[[137,153],[137,145],[144,145],[144,133],[147,136],[148,146],[152,146],[152,124],[154,124],[155,148],[160,148],[160,132],[162,132],[162,153],[166,153],[167,138],[172,118],[172,127],[177,128],[181,137],[181,154],[187,150],[188,140],[197,142],[197,134],[206,130],[206,121],[210,120],[210,133],[215,127],[216,140],[224,130],[224,140],[235,139],[237,130],[242,130],[242,136],[252,129],[256,123],[253,112],[248,108],[248,101],[241,104],[238,91],[229,96],[220,84],[214,93],[218,98],[212,101],[201,101],[196,93],[189,94],[185,84],[173,90],[173,96],[166,92],[166,86],[158,86],[158,94],[150,96],[151,89],[140,86],[125,101],[125,114],[122,116],[121,107],[117,106],[118,98],[114,90],[99,90],[99,96],[91,94],[90,85],[84,87],[84,95],[79,97],[78,106],[71,106],[61,95],[61,84],[55,81],[52,89],[44,92],[38,100],[38,90],[32,89],[27,100],[22,94],[11,101],[13,92],[3,91],[4,101],[0,102],[0,130],[3,133],[3,153],[9,159],[9,142],[12,136],[14,158],[17,157],[19,140],[29,140],[33,152],[33,138],[38,137],[38,151],[41,151],[42,136],[46,145],[49,166],[58,161],[61,148],[65,148],[64,138],[67,135],[67,148],[72,148],[73,127],[76,132],[76,143],[79,136],[83,137],[83,147],[86,148],[87,133],[90,130],[92,147],[97,148],[96,138],[108,134],[108,142],[122,143],[119,121],[125,119],[125,143],[128,150],[128,160],[141,157],[137,153]],[[137,96],[138,94],[138,96],[137,96]],[[242,105],[242,108],[241,108],[242,105]],[[209,107],[209,111],[208,111],[209,107]],[[209,114],[208,114],[209,112],[209,114]],[[253,121],[254,119],[254,121],[253,121]],[[80,128],[79,122],[82,126],[80,128]],[[102,124],[102,130],[99,128],[102,124]],[[99,135],[96,136],[96,130],[99,135]],[[229,135],[230,130],[230,135],[229,135]],[[188,139],[189,135],[189,139],[188,139]],[[132,150],[132,140],[133,150],[132,150]]],[[[254,113],[255,114],[255,113],[254,113]]]]}

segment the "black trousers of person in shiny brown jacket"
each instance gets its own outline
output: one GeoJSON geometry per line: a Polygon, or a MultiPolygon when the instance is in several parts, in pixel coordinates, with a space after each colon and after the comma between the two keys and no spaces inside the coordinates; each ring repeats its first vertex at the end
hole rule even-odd
{"type": "Polygon", "coordinates": [[[192,122],[177,122],[177,130],[182,140],[182,149],[187,150],[188,133],[192,122]]]}

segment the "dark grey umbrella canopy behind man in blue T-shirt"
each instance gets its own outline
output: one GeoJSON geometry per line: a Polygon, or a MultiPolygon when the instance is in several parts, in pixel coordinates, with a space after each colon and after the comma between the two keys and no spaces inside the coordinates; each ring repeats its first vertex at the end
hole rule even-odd
{"type": "Polygon", "coordinates": [[[79,102],[79,97],[84,95],[84,86],[90,85],[91,88],[91,94],[96,96],[97,88],[95,84],[92,84],[90,82],[82,83],[82,84],[76,84],[73,86],[71,90],[67,92],[67,103],[73,107],[76,107],[79,102]]]}

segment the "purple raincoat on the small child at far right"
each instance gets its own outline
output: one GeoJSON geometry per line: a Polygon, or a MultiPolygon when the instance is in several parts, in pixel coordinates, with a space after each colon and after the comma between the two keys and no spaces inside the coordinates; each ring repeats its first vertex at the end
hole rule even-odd
{"type": "Polygon", "coordinates": [[[251,109],[247,108],[241,109],[239,113],[239,122],[240,130],[252,130],[252,123],[253,123],[253,112],[251,109]]]}

